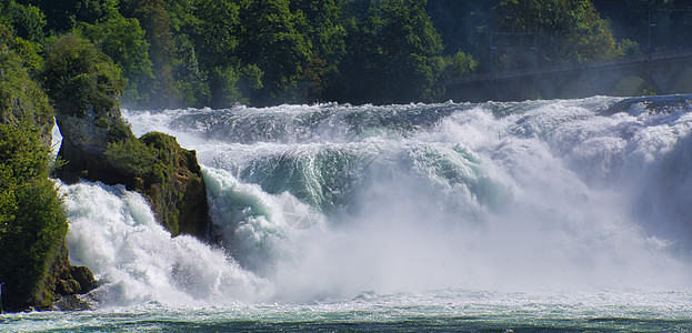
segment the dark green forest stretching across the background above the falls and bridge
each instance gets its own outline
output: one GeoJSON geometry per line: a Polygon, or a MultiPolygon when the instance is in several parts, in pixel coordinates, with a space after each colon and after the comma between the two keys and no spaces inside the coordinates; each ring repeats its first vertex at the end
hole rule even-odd
{"type": "Polygon", "coordinates": [[[32,65],[58,34],[89,40],[130,108],[401,103],[473,72],[683,48],[691,2],[1,0],[0,23],[32,65]]]}

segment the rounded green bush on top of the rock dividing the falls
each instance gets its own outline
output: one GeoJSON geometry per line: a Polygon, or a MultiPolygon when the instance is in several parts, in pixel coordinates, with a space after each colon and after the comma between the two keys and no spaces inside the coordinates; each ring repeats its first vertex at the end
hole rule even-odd
{"type": "Polygon", "coordinates": [[[52,38],[46,47],[43,84],[61,112],[109,114],[126,84],[120,73],[108,56],[73,33],[52,38]]]}

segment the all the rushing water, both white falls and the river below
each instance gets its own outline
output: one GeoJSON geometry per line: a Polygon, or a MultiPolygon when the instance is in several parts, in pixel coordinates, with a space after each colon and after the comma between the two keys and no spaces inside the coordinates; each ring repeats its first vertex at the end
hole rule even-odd
{"type": "Polygon", "coordinates": [[[197,150],[215,244],[60,185],[94,310],[0,329],[692,330],[692,108],[619,101],[126,112],[197,150]]]}

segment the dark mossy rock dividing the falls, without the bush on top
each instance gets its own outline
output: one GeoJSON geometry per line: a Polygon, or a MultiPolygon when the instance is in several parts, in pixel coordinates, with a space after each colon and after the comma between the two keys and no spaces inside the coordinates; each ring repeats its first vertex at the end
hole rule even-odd
{"type": "Polygon", "coordinates": [[[87,179],[124,184],[147,198],[159,223],[172,235],[204,239],[207,189],[195,152],[162,133],[134,138],[117,108],[108,117],[89,110],[81,114],[58,111],[63,135],[59,157],[67,161],[58,176],[67,183],[87,179]]]}

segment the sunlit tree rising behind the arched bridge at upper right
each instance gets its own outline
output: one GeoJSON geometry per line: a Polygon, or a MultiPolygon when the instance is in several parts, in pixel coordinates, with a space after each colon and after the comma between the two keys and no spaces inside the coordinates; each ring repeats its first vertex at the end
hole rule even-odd
{"type": "Polygon", "coordinates": [[[504,0],[497,13],[501,31],[538,34],[542,62],[583,62],[619,56],[608,22],[589,0],[504,0]]]}

